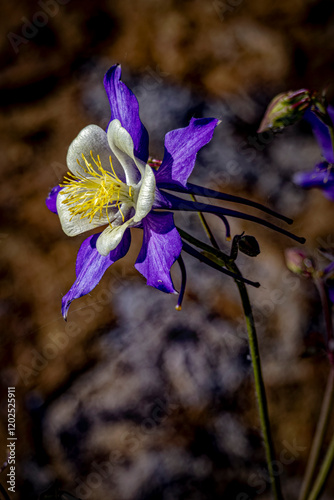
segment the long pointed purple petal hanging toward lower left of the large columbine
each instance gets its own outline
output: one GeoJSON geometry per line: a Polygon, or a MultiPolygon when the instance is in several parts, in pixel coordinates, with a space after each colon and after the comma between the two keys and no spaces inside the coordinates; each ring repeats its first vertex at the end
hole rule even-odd
{"type": "Polygon", "coordinates": [[[62,314],[64,319],[71,302],[91,292],[99,283],[105,271],[111,264],[124,257],[130,247],[130,231],[124,233],[122,241],[109,255],[103,257],[96,250],[96,240],[101,233],[89,236],[81,245],[76,262],[77,279],[62,299],[62,314]]]}

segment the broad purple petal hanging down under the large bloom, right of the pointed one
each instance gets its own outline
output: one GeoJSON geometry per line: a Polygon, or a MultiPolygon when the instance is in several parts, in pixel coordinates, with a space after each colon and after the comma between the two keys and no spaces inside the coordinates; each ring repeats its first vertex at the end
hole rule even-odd
{"type": "Polygon", "coordinates": [[[135,268],[154,286],[166,293],[175,292],[170,268],[182,250],[182,241],[174,225],[173,214],[151,212],[142,220],[143,245],[135,268]]]}

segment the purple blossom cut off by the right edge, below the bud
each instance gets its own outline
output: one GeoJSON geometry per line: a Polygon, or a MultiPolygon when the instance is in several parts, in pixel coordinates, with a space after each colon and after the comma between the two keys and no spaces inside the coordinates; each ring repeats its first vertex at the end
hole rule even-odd
{"type": "MultiPolygon", "coordinates": [[[[334,108],[328,106],[329,119],[334,122],[334,108]]],[[[299,186],[309,189],[316,187],[322,190],[326,198],[334,201],[334,144],[330,133],[330,127],[313,112],[308,109],[304,118],[310,123],[313,133],[320,146],[325,161],[318,163],[311,172],[299,172],[294,175],[294,182],[299,186]]]]}

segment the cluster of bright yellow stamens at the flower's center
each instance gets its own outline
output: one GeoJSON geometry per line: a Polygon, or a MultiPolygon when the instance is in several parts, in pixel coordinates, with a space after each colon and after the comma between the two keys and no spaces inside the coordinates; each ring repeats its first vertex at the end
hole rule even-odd
{"type": "Polygon", "coordinates": [[[92,222],[95,215],[99,214],[100,218],[106,215],[111,226],[108,209],[117,208],[124,222],[121,204],[133,203],[133,188],[117,177],[111,156],[109,156],[111,171],[104,170],[99,155],[95,159],[90,151],[90,156],[97,169],[82,154],[84,165],[79,160],[77,162],[86,175],[80,173],[74,175],[68,172],[60,184],[65,188],[63,192],[67,196],[63,203],[68,205],[71,219],[75,215],[80,215],[80,219],[88,217],[89,222],[92,222]]]}

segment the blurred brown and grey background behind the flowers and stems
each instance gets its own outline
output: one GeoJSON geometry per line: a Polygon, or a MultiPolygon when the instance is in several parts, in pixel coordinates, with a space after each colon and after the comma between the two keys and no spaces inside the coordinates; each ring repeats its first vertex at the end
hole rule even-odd
{"type": "MultiPolygon", "coordinates": [[[[138,97],[152,156],[161,158],[165,133],[192,116],[218,117],[191,180],[293,217],[293,231],[307,237],[314,255],[333,246],[334,205],[292,183],[295,172],[320,160],[308,126],[256,136],[279,92],[328,88],[333,100],[333,21],[330,0],[2,3],[0,462],[7,387],[16,386],[11,498],[45,498],[47,491],[56,498],[57,489],[94,500],[270,497],[234,282],[185,256],[186,296],[175,311],[177,298],[147,287],[134,269],[141,245],[134,230],[129,254],[71,305],[65,323],[61,298],[84,237],[66,237],[44,200],[66,173],[79,131],[107,126],[103,75],[118,62],[138,97]]],[[[205,239],[196,217],[177,222],[205,239]]],[[[208,220],[229,251],[219,221],[208,220]]],[[[292,500],[328,371],[316,349],[321,307],[312,284],[285,267],[291,240],[244,221],[231,227],[261,247],[256,259],[238,262],[262,285],[249,292],[277,473],[292,500]],[[307,357],[310,350],[316,354],[307,357]]],[[[178,287],[177,268],[173,278],[178,287]]],[[[333,495],[332,478],[323,498],[333,495]]]]}

